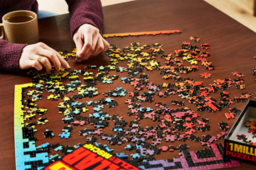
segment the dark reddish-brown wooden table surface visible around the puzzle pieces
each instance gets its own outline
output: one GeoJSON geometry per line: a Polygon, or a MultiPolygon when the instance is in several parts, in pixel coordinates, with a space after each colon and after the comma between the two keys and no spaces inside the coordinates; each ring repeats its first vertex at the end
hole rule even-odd
{"type": "MultiPolygon", "coordinates": [[[[203,81],[207,86],[212,83],[215,79],[223,78],[236,78],[231,75],[231,72],[242,72],[245,74],[244,81],[246,88],[241,91],[231,87],[228,92],[231,93],[231,97],[239,96],[241,92],[254,93],[255,90],[255,77],[252,75],[253,67],[255,67],[255,60],[253,56],[256,53],[256,35],[254,32],[245,28],[243,25],[229,18],[224,13],[218,11],[218,9],[211,7],[206,2],[201,0],[140,0],[136,2],[126,2],[118,5],[104,7],[105,14],[105,33],[119,33],[119,32],[144,32],[144,31],[158,31],[158,30],[171,30],[180,29],[182,33],[172,35],[158,35],[158,36],[143,36],[143,37],[114,37],[108,38],[110,43],[117,45],[118,47],[129,46],[131,42],[141,42],[141,44],[152,44],[159,42],[164,44],[166,53],[174,52],[175,49],[180,49],[182,42],[190,42],[189,37],[197,36],[201,38],[201,42],[207,42],[211,44],[211,57],[208,60],[216,66],[216,69],[212,71],[212,78],[202,80],[200,74],[202,72],[209,72],[204,67],[199,66],[196,73],[189,73],[182,75],[182,77],[192,77],[197,81],[203,81]]],[[[52,18],[44,18],[38,20],[40,41],[48,44],[56,50],[67,49],[71,51],[75,46],[74,42],[70,38],[69,34],[69,15],[64,14],[52,18]]],[[[201,42],[198,43],[201,44],[201,42]]],[[[83,69],[86,64],[95,64],[97,66],[107,65],[109,57],[105,54],[100,54],[98,57],[91,58],[88,62],[74,64],[69,59],[69,63],[75,69],[83,69]]],[[[164,61],[164,60],[161,60],[164,61]]],[[[187,64],[187,63],[186,63],[187,64]]],[[[185,65],[186,65],[185,64],[185,65]]],[[[187,64],[188,66],[188,64],[187,64]]],[[[150,73],[151,82],[157,82],[161,84],[166,82],[161,79],[158,72],[146,72],[150,73]]],[[[120,73],[112,73],[116,75],[125,75],[120,73]]],[[[31,82],[31,77],[27,77],[23,74],[10,74],[1,72],[0,74],[0,165],[1,168],[14,169],[15,168],[15,156],[14,156],[14,138],[13,138],[13,97],[14,97],[14,85],[31,82]]],[[[174,81],[169,81],[174,82],[174,81]]],[[[113,85],[102,85],[97,86],[99,92],[107,92],[113,90],[115,87],[124,87],[128,92],[132,91],[132,88],[128,84],[123,84],[119,80],[115,81],[113,85]]],[[[147,91],[147,90],[146,90],[147,91]]],[[[218,99],[219,94],[211,94],[213,98],[218,99]]],[[[102,95],[93,98],[94,101],[100,99],[102,95]]],[[[124,103],[126,97],[117,98],[120,106],[115,109],[110,109],[111,114],[117,114],[126,117],[125,120],[133,120],[131,117],[127,117],[126,112],[127,105],[124,103]],[[123,111],[125,110],[125,112],[123,111]]],[[[172,107],[171,99],[156,97],[158,102],[166,102],[172,107]],[[169,101],[170,100],[170,101],[169,101]]],[[[175,96],[172,99],[181,100],[181,98],[175,96]]],[[[91,100],[91,99],[89,99],[91,100]]],[[[83,99],[82,102],[88,101],[87,98],[83,99]]],[[[196,107],[188,103],[185,99],[186,107],[192,108],[196,111],[196,107]]],[[[42,101],[37,102],[41,106],[49,106],[50,101],[46,101],[45,98],[42,101]]],[[[84,137],[79,137],[77,131],[72,133],[72,138],[69,140],[60,140],[59,137],[55,137],[51,140],[44,139],[42,132],[49,128],[52,129],[55,135],[61,133],[61,129],[66,126],[60,118],[63,115],[58,114],[57,105],[59,102],[51,102],[51,106],[47,107],[49,112],[42,116],[49,118],[49,122],[45,125],[38,125],[39,141],[37,143],[61,143],[64,145],[74,145],[77,143],[85,142],[84,137]],[[49,116],[50,115],[50,116],[49,116]]],[[[235,103],[232,107],[238,107],[242,109],[245,103],[235,103]]],[[[143,107],[156,107],[150,103],[143,103],[143,107]]],[[[224,116],[224,112],[228,112],[228,109],[223,109],[221,112],[209,113],[209,112],[198,112],[201,117],[208,117],[210,119],[211,130],[205,133],[197,131],[196,136],[202,137],[202,134],[217,135],[221,132],[218,128],[218,122],[222,120],[228,122],[229,126],[233,125],[235,119],[227,120],[224,116]]],[[[153,122],[152,125],[156,125],[153,122]]],[[[145,127],[149,125],[145,120],[141,121],[140,126],[145,127]]],[[[87,126],[87,125],[86,125],[87,126]]],[[[110,128],[113,124],[110,123],[110,128]]],[[[83,127],[86,128],[86,127],[83,127]]],[[[79,127],[79,130],[83,129],[79,127]]],[[[104,133],[112,133],[110,128],[104,130],[104,133]]],[[[114,134],[114,133],[112,133],[114,134]]],[[[223,143],[223,139],[219,140],[223,143]]],[[[173,143],[175,146],[183,142],[173,143]]],[[[194,143],[191,141],[186,142],[187,145],[191,146],[190,150],[198,150],[202,147],[200,143],[194,143]]],[[[121,147],[115,148],[115,153],[120,153],[124,150],[125,144],[121,147]]],[[[162,153],[157,155],[156,158],[172,158],[178,157],[177,151],[173,153],[162,153]]],[[[131,154],[131,153],[129,153],[131,154]]],[[[242,168],[253,168],[253,165],[242,163],[242,168]]]]}

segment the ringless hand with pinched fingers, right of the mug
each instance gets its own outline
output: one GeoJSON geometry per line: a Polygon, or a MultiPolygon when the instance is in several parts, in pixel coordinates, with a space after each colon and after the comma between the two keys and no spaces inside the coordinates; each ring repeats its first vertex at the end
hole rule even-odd
{"type": "Polygon", "coordinates": [[[109,42],[100,35],[99,29],[88,23],[84,23],[74,32],[73,40],[77,50],[76,62],[84,61],[90,56],[97,56],[110,46],[109,42]]]}

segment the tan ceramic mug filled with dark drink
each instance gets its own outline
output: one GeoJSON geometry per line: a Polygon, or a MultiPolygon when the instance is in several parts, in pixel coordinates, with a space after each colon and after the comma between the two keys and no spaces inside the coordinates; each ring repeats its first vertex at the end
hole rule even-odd
{"type": "Polygon", "coordinates": [[[1,39],[13,43],[33,44],[38,42],[38,16],[31,11],[13,11],[3,16],[0,23],[1,39]]]}

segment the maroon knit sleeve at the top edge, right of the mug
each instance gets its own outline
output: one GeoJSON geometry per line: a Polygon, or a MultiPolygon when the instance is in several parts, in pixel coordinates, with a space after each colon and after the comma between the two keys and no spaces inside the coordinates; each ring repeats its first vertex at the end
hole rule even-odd
{"type": "Polygon", "coordinates": [[[103,10],[100,0],[66,0],[70,13],[70,33],[84,23],[89,23],[103,32],[103,10]]]}

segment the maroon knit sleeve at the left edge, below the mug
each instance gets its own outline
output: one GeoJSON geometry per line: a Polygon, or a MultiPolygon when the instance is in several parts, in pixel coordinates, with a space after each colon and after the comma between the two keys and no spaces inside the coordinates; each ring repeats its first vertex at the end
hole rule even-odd
{"type": "Polygon", "coordinates": [[[0,71],[20,71],[18,62],[27,44],[9,43],[0,39],[0,71]]]}

